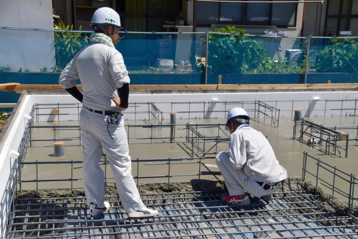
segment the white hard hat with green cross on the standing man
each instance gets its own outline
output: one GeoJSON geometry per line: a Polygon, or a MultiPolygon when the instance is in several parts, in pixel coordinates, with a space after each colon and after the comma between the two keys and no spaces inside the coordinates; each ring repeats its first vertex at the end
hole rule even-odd
{"type": "Polygon", "coordinates": [[[107,24],[117,26],[120,30],[124,29],[121,27],[121,20],[115,10],[107,7],[98,8],[92,16],[91,26],[107,24]]]}

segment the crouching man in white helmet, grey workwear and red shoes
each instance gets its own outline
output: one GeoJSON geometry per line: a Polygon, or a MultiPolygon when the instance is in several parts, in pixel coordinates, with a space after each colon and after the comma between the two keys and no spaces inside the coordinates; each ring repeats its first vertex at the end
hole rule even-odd
{"type": "Polygon", "coordinates": [[[249,125],[249,120],[240,107],[229,111],[225,127],[231,133],[229,154],[216,155],[216,164],[229,191],[223,199],[229,204],[250,204],[246,192],[270,201],[279,182],[287,178],[287,171],[277,161],[269,141],[249,125]]]}

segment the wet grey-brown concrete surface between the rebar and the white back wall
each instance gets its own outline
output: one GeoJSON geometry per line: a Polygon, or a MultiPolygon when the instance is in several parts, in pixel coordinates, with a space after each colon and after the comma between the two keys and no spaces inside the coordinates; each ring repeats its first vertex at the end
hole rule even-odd
{"type": "MultiPolygon", "coordinates": [[[[308,121],[312,121],[315,124],[324,125],[324,126],[354,126],[358,124],[358,117],[356,116],[342,116],[342,117],[310,117],[305,118],[308,121]]],[[[163,124],[169,124],[169,120],[164,120],[163,124]]],[[[200,157],[205,155],[206,157],[214,157],[213,152],[228,151],[228,145],[226,142],[218,143],[216,147],[209,150],[214,143],[207,142],[205,143],[205,149],[209,153],[197,153],[195,151],[193,154],[190,150],[192,149],[192,144],[186,142],[185,136],[187,131],[185,129],[185,124],[190,123],[194,128],[200,132],[200,134],[205,135],[205,137],[227,137],[228,132],[224,130],[224,127],[204,127],[198,126],[196,124],[223,124],[224,119],[189,119],[176,120],[175,127],[175,140],[170,143],[170,139],[135,139],[135,138],[149,138],[149,137],[169,137],[170,129],[169,128],[128,128],[128,125],[148,125],[147,121],[142,120],[126,120],[126,131],[129,132],[129,148],[130,156],[132,159],[167,159],[167,158],[188,158],[188,157],[200,157]],[[152,141],[152,143],[151,143],[152,141]],[[175,141],[175,142],[174,142],[175,141]]],[[[322,161],[332,165],[337,166],[347,173],[356,172],[355,169],[358,168],[358,146],[355,146],[354,141],[349,141],[348,146],[348,158],[340,158],[337,156],[327,156],[322,152],[322,147],[318,148],[318,145],[310,145],[307,143],[307,137],[303,138],[300,142],[296,139],[293,139],[293,129],[295,122],[293,118],[280,118],[279,127],[272,127],[269,119],[252,119],[250,124],[253,128],[261,131],[267,139],[269,140],[272,148],[275,151],[276,158],[279,160],[280,164],[285,167],[288,171],[289,177],[302,177],[302,167],[303,167],[303,152],[306,151],[310,155],[320,158],[322,161]]],[[[79,129],[78,121],[54,121],[54,122],[38,122],[34,124],[35,126],[73,126],[73,128],[61,128],[57,129],[54,132],[53,128],[34,128],[32,133],[32,139],[54,139],[56,141],[62,139],[71,139],[64,141],[65,142],[65,155],[62,157],[53,157],[54,147],[53,140],[49,141],[36,141],[32,142],[32,147],[28,147],[25,162],[32,161],[48,161],[54,162],[55,164],[38,164],[37,172],[35,164],[26,164],[22,168],[22,180],[33,180],[36,179],[52,179],[52,178],[75,178],[78,180],[72,181],[63,181],[59,182],[39,182],[40,188],[53,188],[53,187],[64,187],[69,188],[81,188],[82,182],[79,180],[82,177],[81,163],[76,161],[82,160],[82,148],[80,146],[79,138],[79,129]],[[77,128],[76,128],[77,127],[77,128]],[[70,130],[69,130],[70,129],[70,130]],[[55,135],[56,134],[56,135],[55,135]],[[62,163],[68,161],[75,161],[76,163],[62,163]]],[[[346,130],[345,133],[354,135],[354,130],[346,130]]],[[[299,133],[296,133],[298,137],[299,133]]],[[[201,146],[203,147],[202,143],[201,146]]],[[[323,147],[324,148],[324,147],[323,147]]],[[[206,151],[205,151],[206,152],[206,151]]],[[[105,160],[105,156],[102,157],[105,160]]],[[[199,173],[199,163],[198,160],[181,160],[177,164],[171,164],[170,169],[168,164],[158,164],[159,162],[133,162],[132,163],[132,175],[133,176],[162,176],[158,178],[140,178],[135,180],[139,183],[153,183],[153,182],[166,182],[168,178],[166,176],[170,175],[190,175],[199,173]],[[139,167],[139,169],[138,169],[139,167]]],[[[205,164],[215,164],[214,159],[205,159],[203,161],[205,164]]],[[[106,172],[107,177],[109,178],[107,182],[114,182],[111,169],[108,165],[101,166],[106,172]]],[[[314,164],[309,165],[309,167],[316,167],[314,164]]],[[[216,168],[209,168],[213,172],[218,172],[216,168]]],[[[200,172],[208,172],[206,168],[202,165],[200,166],[200,172]]],[[[170,181],[186,181],[190,178],[197,178],[197,176],[173,176],[170,178],[170,181]]],[[[339,183],[339,182],[338,182],[339,183]]],[[[343,182],[342,182],[343,183],[343,182]]],[[[31,183],[22,183],[22,188],[34,188],[36,187],[35,182],[31,183]]]]}

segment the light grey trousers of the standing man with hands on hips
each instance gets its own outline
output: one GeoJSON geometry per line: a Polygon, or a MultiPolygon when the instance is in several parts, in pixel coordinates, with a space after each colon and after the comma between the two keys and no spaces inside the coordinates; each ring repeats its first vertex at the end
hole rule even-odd
{"type": "Polygon", "coordinates": [[[118,124],[108,124],[107,116],[82,108],[79,113],[83,151],[83,187],[87,205],[91,202],[104,207],[105,181],[104,172],[98,163],[104,149],[115,177],[118,195],[127,213],[144,206],[131,174],[132,165],[129,156],[127,134],[124,120],[118,116],[118,124]]]}

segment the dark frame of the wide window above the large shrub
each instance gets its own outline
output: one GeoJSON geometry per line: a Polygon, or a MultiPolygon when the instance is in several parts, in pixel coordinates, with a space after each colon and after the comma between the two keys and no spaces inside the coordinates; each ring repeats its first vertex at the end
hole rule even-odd
{"type": "MultiPolygon", "coordinates": [[[[270,1],[275,1],[275,0],[270,0],[270,1]]],[[[211,23],[211,24],[205,24],[205,23],[199,23],[198,19],[196,20],[197,27],[210,27],[212,24],[215,25],[260,25],[260,26],[270,26],[272,25],[272,8],[273,5],[275,3],[269,3],[270,4],[270,13],[269,13],[269,21],[247,21],[246,17],[247,17],[247,4],[250,4],[249,1],[247,1],[247,3],[243,3],[243,13],[242,13],[242,21],[221,21],[220,20],[220,11],[221,11],[221,4],[219,3],[218,6],[218,21],[216,23],[211,23]]],[[[277,3],[280,4],[280,3],[277,3]]],[[[295,4],[295,18],[294,18],[294,24],[293,25],[276,25],[276,27],[278,28],[289,28],[289,27],[296,27],[297,25],[297,8],[298,8],[298,3],[292,3],[295,4]]],[[[198,16],[198,8],[197,8],[197,13],[196,15],[198,16]]]]}

